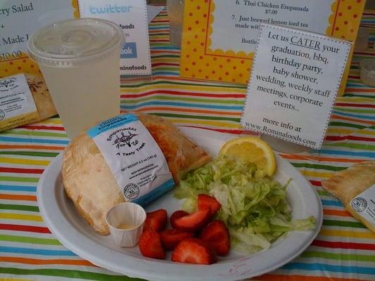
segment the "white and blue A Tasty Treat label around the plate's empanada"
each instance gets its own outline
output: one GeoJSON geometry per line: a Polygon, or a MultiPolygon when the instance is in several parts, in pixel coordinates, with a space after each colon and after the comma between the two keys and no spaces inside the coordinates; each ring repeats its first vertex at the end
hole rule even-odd
{"type": "Polygon", "coordinates": [[[146,205],[174,186],[162,150],[135,115],[113,117],[87,134],[106,159],[126,201],[146,205]]]}

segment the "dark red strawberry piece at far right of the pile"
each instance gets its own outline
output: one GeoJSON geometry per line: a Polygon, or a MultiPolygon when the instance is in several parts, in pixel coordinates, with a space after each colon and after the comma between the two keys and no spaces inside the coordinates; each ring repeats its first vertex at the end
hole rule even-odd
{"type": "Polygon", "coordinates": [[[228,254],[231,247],[229,231],[222,221],[211,221],[199,235],[201,239],[215,250],[218,256],[228,254]]]}

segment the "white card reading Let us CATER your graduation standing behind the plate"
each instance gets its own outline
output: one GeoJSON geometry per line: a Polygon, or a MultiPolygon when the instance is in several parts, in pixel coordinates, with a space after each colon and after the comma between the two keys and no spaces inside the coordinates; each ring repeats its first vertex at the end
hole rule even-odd
{"type": "Polygon", "coordinates": [[[321,34],[260,25],[241,125],[321,148],[350,47],[321,34]]]}

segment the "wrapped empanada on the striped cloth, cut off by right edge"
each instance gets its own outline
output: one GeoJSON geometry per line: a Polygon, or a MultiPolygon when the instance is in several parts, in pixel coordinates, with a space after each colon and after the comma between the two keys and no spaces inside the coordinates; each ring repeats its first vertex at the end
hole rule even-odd
{"type": "Polygon", "coordinates": [[[375,232],[375,161],[338,171],[322,181],[322,186],[338,197],[352,216],[375,232]]]}

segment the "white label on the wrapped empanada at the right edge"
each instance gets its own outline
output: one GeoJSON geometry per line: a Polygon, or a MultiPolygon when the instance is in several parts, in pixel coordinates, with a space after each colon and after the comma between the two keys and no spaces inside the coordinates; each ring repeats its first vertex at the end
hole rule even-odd
{"type": "MultiPolygon", "coordinates": [[[[361,220],[375,229],[375,185],[364,190],[350,201],[350,209],[355,211],[361,220]]],[[[369,226],[369,227],[370,227],[369,226]]]]}

